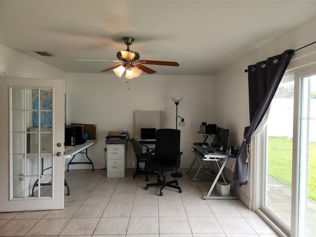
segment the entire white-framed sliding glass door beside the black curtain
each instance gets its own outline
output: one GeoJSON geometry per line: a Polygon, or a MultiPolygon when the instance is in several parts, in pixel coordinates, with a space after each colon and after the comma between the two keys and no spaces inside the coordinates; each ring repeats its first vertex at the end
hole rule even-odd
{"type": "Polygon", "coordinates": [[[315,235],[315,130],[316,68],[284,76],[262,133],[256,192],[258,212],[279,234],[315,235]]]}

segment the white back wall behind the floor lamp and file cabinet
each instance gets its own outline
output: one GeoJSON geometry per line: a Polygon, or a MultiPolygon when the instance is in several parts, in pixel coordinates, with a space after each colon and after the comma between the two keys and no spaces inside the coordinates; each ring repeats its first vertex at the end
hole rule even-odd
{"type": "Polygon", "coordinates": [[[98,143],[89,150],[94,165],[97,168],[105,166],[104,148],[108,131],[127,130],[131,137],[135,136],[136,110],[164,111],[165,127],[175,128],[176,106],[170,97],[183,96],[178,105],[178,115],[186,123],[185,127],[178,126],[181,130],[181,151],[184,153],[181,168],[189,168],[194,158],[191,145],[203,141],[203,136],[197,134],[199,124],[202,121],[213,122],[212,77],[142,74],[139,78],[131,79],[128,86],[129,89],[124,77],[118,78],[112,73],[67,75],[67,124],[97,124],[98,143]]]}

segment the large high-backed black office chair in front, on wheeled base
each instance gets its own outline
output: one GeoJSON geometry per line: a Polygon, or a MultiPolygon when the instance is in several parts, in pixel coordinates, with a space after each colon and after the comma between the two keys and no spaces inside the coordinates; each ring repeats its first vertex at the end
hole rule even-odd
{"type": "Polygon", "coordinates": [[[159,195],[162,196],[162,189],[171,187],[182,193],[181,187],[177,180],[166,182],[166,172],[175,171],[180,167],[180,130],[176,129],[157,129],[156,147],[150,152],[151,158],[148,163],[148,169],[161,171],[163,180],[157,178],[157,183],[147,184],[145,189],[150,186],[161,186],[159,195]],[[175,184],[175,185],[173,185],[175,184]]]}

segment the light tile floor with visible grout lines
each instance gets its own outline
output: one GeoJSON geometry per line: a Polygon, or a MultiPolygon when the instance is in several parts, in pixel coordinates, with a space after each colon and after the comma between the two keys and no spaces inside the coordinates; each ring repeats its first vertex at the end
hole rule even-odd
{"type": "Polygon", "coordinates": [[[65,172],[71,192],[63,210],[0,213],[0,236],[277,237],[241,201],[202,199],[209,183],[190,181],[185,170],[178,178],[183,192],[166,188],[162,197],[133,172],[125,178],[107,178],[105,170],[65,172]]]}

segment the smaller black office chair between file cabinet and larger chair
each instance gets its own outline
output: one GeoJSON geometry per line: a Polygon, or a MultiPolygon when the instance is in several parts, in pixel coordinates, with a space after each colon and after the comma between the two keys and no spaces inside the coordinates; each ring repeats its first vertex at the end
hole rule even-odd
{"type": "Polygon", "coordinates": [[[151,175],[158,175],[159,176],[158,173],[155,173],[154,171],[148,171],[148,168],[147,168],[147,164],[148,164],[148,161],[149,161],[149,152],[151,150],[154,150],[154,149],[153,148],[148,148],[148,146],[146,146],[144,144],[140,144],[134,138],[130,139],[129,141],[131,142],[131,144],[133,146],[134,153],[136,155],[136,160],[137,160],[137,167],[136,167],[135,173],[133,174],[133,179],[135,179],[136,176],[145,175],[146,181],[148,181],[148,175],[149,174],[151,174],[151,175]],[[143,152],[142,146],[146,147],[146,151],[145,152],[143,152]],[[145,163],[144,170],[141,170],[139,168],[139,163],[145,163]]]}

